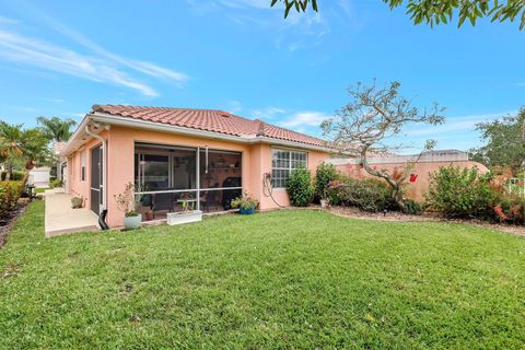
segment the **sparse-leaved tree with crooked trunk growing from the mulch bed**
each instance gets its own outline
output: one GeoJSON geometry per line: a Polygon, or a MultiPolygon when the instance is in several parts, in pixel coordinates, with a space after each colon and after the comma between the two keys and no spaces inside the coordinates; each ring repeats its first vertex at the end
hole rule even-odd
{"type": "MultiPolygon", "coordinates": [[[[402,185],[406,183],[413,164],[420,156],[408,162],[401,171],[389,174],[369,164],[371,154],[390,153],[400,147],[386,144],[398,136],[408,124],[439,125],[444,122],[444,108],[434,105],[427,110],[411,106],[410,101],[399,96],[400,84],[392,82],[384,88],[364,86],[358,83],[348,89],[352,101],[342,107],[334,118],[323,121],[322,129],[329,144],[343,154],[355,156],[366,173],[382,178],[392,188],[392,198],[401,211],[406,211],[402,200],[402,185]]],[[[435,145],[427,141],[425,151],[435,145]]]]}

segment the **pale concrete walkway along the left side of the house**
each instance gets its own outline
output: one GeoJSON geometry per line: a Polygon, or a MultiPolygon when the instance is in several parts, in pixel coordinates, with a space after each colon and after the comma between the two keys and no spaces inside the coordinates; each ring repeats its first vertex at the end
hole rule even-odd
{"type": "Polygon", "coordinates": [[[98,217],[88,208],[72,209],[71,197],[61,189],[46,190],[45,231],[46,237],[61,234],[97,231],[98,217]]]}

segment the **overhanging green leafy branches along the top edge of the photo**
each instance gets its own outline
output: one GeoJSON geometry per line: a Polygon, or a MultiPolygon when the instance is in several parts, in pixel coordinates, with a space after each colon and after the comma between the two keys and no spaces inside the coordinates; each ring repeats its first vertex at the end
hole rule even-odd
{"type": "MultiPolygon", "coordinates": [[[[520,19],[520,30],[525,26],[525,1],[524,0],[383,0],[390,10],[406,3],[407,14],[415,24],[427,23],[431,27],[440,23],[448,23],[455,12],[458,13],[457,26],[462,26],[466,20],[471,25],[482,18],[490,18],[492,22],[514,22],[520,19]]],[[[284,18],[292,9],[305,12],[308,8],[318,11],[316,0],[271,0],[271,7],[277,3],[284,4],[284,18]]]]}

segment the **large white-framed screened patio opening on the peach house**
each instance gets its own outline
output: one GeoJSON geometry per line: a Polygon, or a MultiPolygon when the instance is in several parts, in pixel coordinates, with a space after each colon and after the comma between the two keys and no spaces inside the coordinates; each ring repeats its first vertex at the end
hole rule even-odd
{"type": "Polygon", "coordinates": [[[231,209],[242,194],[242,154],[137,143],[135,183],[144,220],[164,219],[168,212],[231,209]]]}

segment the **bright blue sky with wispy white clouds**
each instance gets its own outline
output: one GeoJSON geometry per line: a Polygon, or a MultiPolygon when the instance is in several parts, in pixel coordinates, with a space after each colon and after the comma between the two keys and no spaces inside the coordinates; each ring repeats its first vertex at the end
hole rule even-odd
{"type": "Polygon", "coordinates": [[[381,0],[319,0],[318,14],[283,20],[269,2],[0,0],[0,117],[222,108],[318,136],[349,85],[398,80],[416,105],[447,108],[444,126],[410,127],[400,142],[468,149],[475,122],[525,105],[517,23],[432,30],[381,0]]]}

